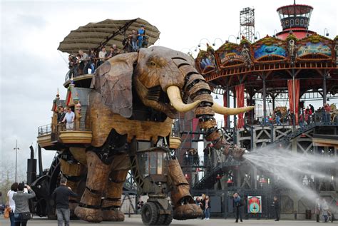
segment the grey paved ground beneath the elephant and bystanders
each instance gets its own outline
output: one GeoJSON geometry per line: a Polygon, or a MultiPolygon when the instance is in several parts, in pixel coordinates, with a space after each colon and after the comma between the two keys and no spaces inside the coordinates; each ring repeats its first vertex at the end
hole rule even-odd
{"type": "MultiPolygon", "coordinates": [[[[28,226],[35,226],[35,225],[43,225],[43,226],[56,226],[58,223],[56,220],[46,220],[43,218],[34,218],[33,220],[30,220],[28,222],[28,226]]],[[[0,218],[0,225],[5,226],[9,225],[9,220],[4,219],[2,216],[0,218]]],[[[88,222],[84,222],[82,220],[73,220],[71,221],[71,226],[76,225],[94,225],[88,222]]],[[[124,222],[101,222],[100,224],[95,224],[97,226],[100,225],[130,225],[130,226],[136,226],[136,225],[143,225],[142,220],[140,220],[140,217],[132,217],[128,218],[126,216],[126,220],[124,222]]],[[[211,219],[211,220],[184,220],[184,221],[178,221],[173,220],[171,225],[179,226],[179,225],[208,225],[208,226],[232,226],[232,225],[299,225],[299,226],[312,226],[312,225],[323,225],[323,223],[317,223],[314,221],[295,221],[295,220],[280,220],[279,222],[275,222],[274,220],[244,220],[244,222],[235,223],[235,220],[232,219],[211,219]]],[[[338,225],[338,222],[329,222],[326,225],[338,225]]]]}

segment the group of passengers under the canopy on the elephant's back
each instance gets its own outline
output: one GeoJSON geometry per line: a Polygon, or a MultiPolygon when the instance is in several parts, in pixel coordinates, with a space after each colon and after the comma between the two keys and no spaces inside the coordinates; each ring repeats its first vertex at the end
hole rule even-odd
{"type": "Polygon", "coordinates": [[[145,35],[145,26],[141,25],[138,31],[133,29],[130,34],[126,35],[122,41],[122,49],[119,49],[116,44],[113,44],[108,47],[108,51],[106,46],[101,46],[98,51],[90,48],[87,52],[79,50],[76,56],[70,54],[68,56],[68,77],[71,78],[72,76],[76,77],[82,74],[88,74],[89,69],[91,69],[91,73],[94,73],[98,66],[119,53],[136,52],[140,48],[147,48],[148,39],[148,36],[145,35]]]}

